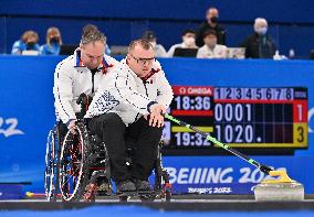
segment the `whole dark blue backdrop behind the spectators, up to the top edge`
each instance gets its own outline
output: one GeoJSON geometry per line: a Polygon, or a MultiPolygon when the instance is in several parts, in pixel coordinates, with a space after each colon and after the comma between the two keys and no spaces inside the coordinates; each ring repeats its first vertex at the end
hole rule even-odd
{"type": "Polygon", "coordinates": [[[107,34],[109,45],[127,45],[150,29],[158,35],[158,42],[169,48],[181,41],[184,29],[199,25],[210,6],[220,10],[229,46],[238,46],[252,33],[253,20],[264,17],[281,53],[287,55],[294,48],[296,56],[307,58],[314,47],[311,0],[2,0],[0,53],[10,53],[13,42],[29,29],[38,31],[40,43],[44,43],[45,31],[52,25],[60,28],[64,43],[76,44],[87,23],[98,25],[107,34]]]}

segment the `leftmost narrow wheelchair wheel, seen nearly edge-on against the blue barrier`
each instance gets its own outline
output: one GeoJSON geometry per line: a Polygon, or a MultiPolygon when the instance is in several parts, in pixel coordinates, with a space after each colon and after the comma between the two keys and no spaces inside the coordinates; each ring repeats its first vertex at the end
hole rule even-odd
{"type": "Polygon", "coordinates": [[[59,130],[55,126],[49,132],[45,149],[44,192],[49,202],[55,202],[59,188],[59,130]]]}

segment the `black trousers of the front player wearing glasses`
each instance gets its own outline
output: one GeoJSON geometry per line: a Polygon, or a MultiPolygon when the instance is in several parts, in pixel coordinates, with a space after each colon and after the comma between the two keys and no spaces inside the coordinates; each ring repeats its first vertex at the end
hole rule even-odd
{"type": "Polygon", "coordinates": [[[140,118],[126,127],[116,113],[104,113],[88,123],[92,133],[103,139],[111,159],[112,178],[119,183],[126,180],[147,180],[154,169],[157,147],[163,128],[154,128],[140,118]],[[133,166],[126,166],[127,145],[133,148],[133,166]]]}

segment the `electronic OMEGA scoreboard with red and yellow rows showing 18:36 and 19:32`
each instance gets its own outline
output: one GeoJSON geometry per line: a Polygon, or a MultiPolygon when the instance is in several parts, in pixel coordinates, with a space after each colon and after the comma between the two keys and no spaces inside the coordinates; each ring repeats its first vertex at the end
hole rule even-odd
{"type": "MultiPolygon", "coordinates": [[[[304,87],[172,86],[172,89],[169,113],[230,147],[307,148],[304,87]]],[[[164,143],[166,151],[214,149],[200,134],[168,121],[164,143]]]]}

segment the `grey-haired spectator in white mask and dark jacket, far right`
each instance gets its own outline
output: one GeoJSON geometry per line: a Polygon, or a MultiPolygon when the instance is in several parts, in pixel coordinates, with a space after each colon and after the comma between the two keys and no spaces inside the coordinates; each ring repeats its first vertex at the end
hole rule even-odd
{"type": "Polygon", "coordinates": [[[276,47],[268,35],[268,21],[257,18],[254,33],[249,35],[240,46],[245,47],[247,58],[272,58],[276,47]]]}

